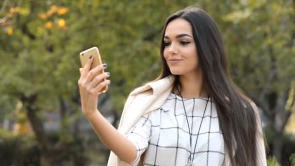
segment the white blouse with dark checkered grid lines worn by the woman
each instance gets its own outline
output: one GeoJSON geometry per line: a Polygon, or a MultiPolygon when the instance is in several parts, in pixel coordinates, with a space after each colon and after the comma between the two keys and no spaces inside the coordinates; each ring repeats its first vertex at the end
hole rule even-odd
{"type": "Polygon", "coordinates": [[[132,166],[137,166],[145,151],[144,166],[185,166],[190,155],[193,157],[202,118],[193,163],[197,166],[224,165],[224,141],[214,102],[209,99],[203,116],[207,98],[183,101],[192,134],[192,147],[182,100],[171,93],[161,108],[142,116],[126,134],[137,149],[132,166]]]}

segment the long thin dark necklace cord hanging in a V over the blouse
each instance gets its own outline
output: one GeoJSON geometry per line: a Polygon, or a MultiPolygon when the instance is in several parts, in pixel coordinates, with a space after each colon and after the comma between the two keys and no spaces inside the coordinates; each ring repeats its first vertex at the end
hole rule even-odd
{"type": "MultiPolygon", "coordinates": [[[[196,140],[196,144],[195,144],[195,149],[194,149],[194,153],[193,153],[193,157],[192,156],[192,133],[190,131],[190,126],[188,124],[188,119],[187,119],[187,115],[186,115],[186,110],[185,110],[185,106],[184,106],[184,102],[183,102],[183,98],[181,96],[181,93],[180,93],[180,90],[178,89],[178,87],[176,86],[177,90],[178,90],[178,93],[181,97],[181,100],[182,100],[182,104],[183,104],[183,109],[184,109],[184,113],[185,113],[185,117],[186,117],[186,122],[187,122],[187,127],[188,127],[188,132],[190,134],[190,145],[191,145],[191,152],[190,152],[190,157],[189,157],[189,163],[186,164],[186,166],[196,166],[193,161],[194,161],[194,157],[195,157],[195,152],[196,152],[196,147],[197,147],[197,140],[196,140]]],[[[201,120],[201,123],[200,123],[200,127],[199,127],[199,130],[197,132],[197,139],[199,137],[199,132],[200,132],[200,129],[201,129],[201,125],[202,125],[202,122],[203,122],[203,118],[204,118],[204,115],[205,115],[205,111],[206,111],[206,108],[207,108],[207,104],[208,104],[208,101],[209,101],[209,97],[210,95],[208,95],[208,99],[207,99],[207,102],[206,102],[206,106],[205,106],[205,109],[204,109],[204,112],[203,112],[203,116],[202,116],[202,120],[201,120]]],[[[193,118],[193,116],[192,116],[193,118]]],[[[192,131],[193,132],[193,131],[192,131]]]]}

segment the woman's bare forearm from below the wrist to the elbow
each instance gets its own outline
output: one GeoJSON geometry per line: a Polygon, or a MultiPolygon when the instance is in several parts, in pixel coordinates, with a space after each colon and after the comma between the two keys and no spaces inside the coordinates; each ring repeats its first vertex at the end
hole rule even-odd
{"type": "Polygon", "coordinates": [[[137,155],[135,146],[124,135],[119,133],[99,111],[96,111],[87,119],[92,124],[100,140],[118,158],[126,163],[132,163],[135,160],[137,155]]]}

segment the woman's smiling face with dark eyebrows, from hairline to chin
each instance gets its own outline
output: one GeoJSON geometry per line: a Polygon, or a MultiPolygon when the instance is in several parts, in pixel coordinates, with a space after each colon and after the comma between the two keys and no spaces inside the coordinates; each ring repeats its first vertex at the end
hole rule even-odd
{"type": "Polygon", "coordinates": [[[172,20],[164,34],[164,58],[174,75],[196,72],[197,48],[191,24],[182,18],[172,20]]]}

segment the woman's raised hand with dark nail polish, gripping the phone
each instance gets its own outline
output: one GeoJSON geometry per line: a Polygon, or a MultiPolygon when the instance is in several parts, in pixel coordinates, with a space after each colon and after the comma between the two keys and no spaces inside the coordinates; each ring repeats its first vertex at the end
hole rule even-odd
{"type": "Polygon", "coordinates": [[[80,68],[81,77],[78,81],[82,111],[86,117],[90,117],[98,110],[98,95],[105,86],[111,83],[110,80],[104,80],[110,76],[108,72],[102,72],[96,76],[96,74],[105,69],[107,65],[102,64],[90,70],[92,62],[93,58],[90,57],[87,64],[83,68],[80,68]]]}

